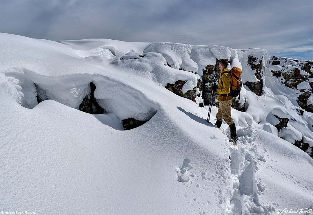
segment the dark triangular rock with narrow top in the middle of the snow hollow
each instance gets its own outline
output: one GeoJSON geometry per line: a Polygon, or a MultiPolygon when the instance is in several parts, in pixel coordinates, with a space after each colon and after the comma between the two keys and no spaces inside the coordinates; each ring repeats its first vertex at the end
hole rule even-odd
{"type": "Polygon", "coordinates": [[[85,97],[78,109],[85,113],[103,114],[104,109],[100,107],[100,105],[97,102],[97,99],[94,97],[96,86],[92,82],[90,82],[90,89],[91,89],[90,98],[85,97]]]}

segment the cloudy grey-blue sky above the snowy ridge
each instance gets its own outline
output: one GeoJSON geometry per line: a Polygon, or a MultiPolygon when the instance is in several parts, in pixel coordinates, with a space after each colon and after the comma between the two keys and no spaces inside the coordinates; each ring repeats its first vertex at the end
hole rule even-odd
{"type": "Polygon", "coordinates": [[[313,60],[313,1],[0,1],[0,32],[264,48],[313,60]]]}

